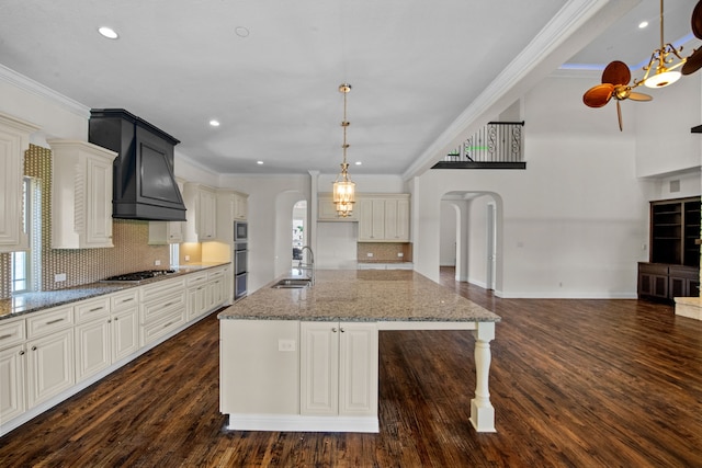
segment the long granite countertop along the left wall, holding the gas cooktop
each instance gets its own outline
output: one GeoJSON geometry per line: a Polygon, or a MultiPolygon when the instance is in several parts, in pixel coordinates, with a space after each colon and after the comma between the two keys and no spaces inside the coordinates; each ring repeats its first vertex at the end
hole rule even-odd
{"type": "Polygon", "coordinates": [[[128,289],[132,287],[144,286],[145,284],[156,283],[163,279],[170,279],[180,275],[195,273],[216,266],[226,265],[224,263],[199,263],[181,266],[171,266],[176,273],[165,276],[158,276],[151,279],[145,279],[136,283],[90,283],[80,286],[69,287],[66,289],[46,290],[36,293],[23,293],[13,295],[9,299],[0,299],[0,320],[11,319],[24,313],[37,312],[39,310],[49,309],[52,307],[63,306],[65,304],[76,303],[79,300],[90,299],[91,297],[103,296],[110,293],[128,289]]]}

